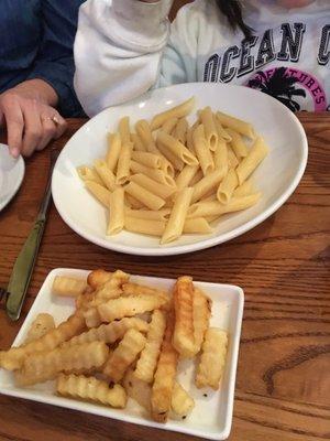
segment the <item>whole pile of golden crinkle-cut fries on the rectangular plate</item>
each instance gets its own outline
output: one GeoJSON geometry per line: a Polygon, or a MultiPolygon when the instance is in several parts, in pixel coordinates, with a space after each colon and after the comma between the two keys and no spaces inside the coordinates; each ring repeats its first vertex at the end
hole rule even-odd
{"type": "Polygon", "coordinates": [[[18,386],[55,379],[61,396],[113,408],[130,397],[158,422],[185,419],[195,406],[177,380],[180,359],[197,361],[197,388],[219,388],[228,335],[209,326],[211,300],[190,277],[166,292],[95,270],[87,282],[56,277],[53,294],[75,297],[75,312],[57,326],[38,314],[21,346],[0,352],[18,386]]]}

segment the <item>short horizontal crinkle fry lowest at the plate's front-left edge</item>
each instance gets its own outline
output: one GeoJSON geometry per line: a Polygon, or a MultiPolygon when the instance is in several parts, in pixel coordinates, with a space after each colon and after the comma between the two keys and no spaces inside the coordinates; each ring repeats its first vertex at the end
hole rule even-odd
{"type": "Polygon", "coordinates": [[[116,408],[123,409],[127,406],[127,392],[122,386],[114,385],[110,388],[107,381],[84,375],[61,374],[56,391],[65,397],[97,401],[116,408]]]}

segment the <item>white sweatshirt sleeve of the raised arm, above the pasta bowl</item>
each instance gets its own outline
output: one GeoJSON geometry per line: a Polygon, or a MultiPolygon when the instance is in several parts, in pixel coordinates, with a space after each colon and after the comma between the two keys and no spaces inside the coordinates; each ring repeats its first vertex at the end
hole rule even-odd
{"type": "Polygon", "coordinates": [[[88,115],[135,98],[157,82],[170,4],[91,0],[81,7],[75,87],[88,115]]]}

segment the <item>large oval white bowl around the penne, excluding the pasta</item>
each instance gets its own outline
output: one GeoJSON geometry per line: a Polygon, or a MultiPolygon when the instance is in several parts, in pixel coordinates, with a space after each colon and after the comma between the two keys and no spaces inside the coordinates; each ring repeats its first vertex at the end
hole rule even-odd
{"type": "Polygon", "coordinates": [[[76,233],[101,247],[133,255],[166,256],[191,252],[230,240],[255,227],[290,196],[307,163],[307,139],[295,117],[276,99],[241,86],[209,83],[180,84],[157,89],[134,103],[109,108],[88,121],[62,151],[53,174],[53,198],[62,218],[76,233]],[[254,173],[262,200],[252,208],[228,214],[210,235],[184,235],[160,246],[158,238],[122,232],[106,236],[106,209],[80,182],[76,168],[92,164],[107,152],[107,132],[114,131],[119,119],[129,115],[134,123],[195,96],[197,108],[211,106],[250,121],[266,139],[271,151],[254,173]]]}

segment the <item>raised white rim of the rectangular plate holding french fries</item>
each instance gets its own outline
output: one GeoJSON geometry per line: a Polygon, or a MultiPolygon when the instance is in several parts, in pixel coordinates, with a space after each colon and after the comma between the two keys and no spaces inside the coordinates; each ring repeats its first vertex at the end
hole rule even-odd
{"type": "MultiPolygon", "coordinates": [[[[38,302],[37,298],[38,295],[47,290],[47,284],[50,283],[50,280],[53,280],[55,276],[67,276],[67,277],[87,277],[90,271],[88,270],[81,270],[81,269],[72,269],[72,268],[56,268],[53,269],[46,277],[41,290],[38,291],[38,294],[35,298],[35,301],[33,303],[33,306],[29,311],[29,314],[26,315],[12,346],[19,345],[24,337],[32,316],[34,316],[38,312],[38,302]]],[[[158,278],[158,277],[147,277],[143,276],[143,279],[150,279],[151,281],[156,281],[160,280],[162,282],[169,282],[173,283],[175,280],[174,279],[167,279],[167,278],[158,278]]],[[[227,407],[226,407],[226,417],[224,417],[224,428],[221,430],[221,432],[205,432],[202,433],[204,439],[209,439],[209,440],[226,440],[231,431],[231,426],[232,426],[232,415],[233,415],[233,402],[234,402],[234,388],[235,388],[235,377],[237,377],[237,367],[238,367],[238,358],[239,358],[239,346],[240,346],[240,337],[241,337],[241,327],[242,327],[242,320],[243,320],[243,306],[244,306],[244,292],[242,288],[233,284],[228,284],[228,283],[211,283],[211,282],[201,282],[201,281],[194,281],[195,284],[202,283],[205,286],[217,286],[217,289],[219,288],[219,291],[223,288],[230,288],[235,291],[235,295],[238,297],[238,313],[235,316],[235,327],[232,331],[232,336],[231,336],[231,344],[232,344],[232,351],[231,351],[231,363],[229,367],[229,378],[228,378],[228,401],[227,401],[227,407]]],[[[204,288],[205,289],[205,288],[204,288]]],[[[207,290],[207,289],[206,289],[207,290]]],[[[221,392],[221,391],[220,391],[221,392]]],[[[10,388],[1,388],[0,394],[2,395],[8,395],[16,398],[23,398],[36,402],[43,402],[52,406],[57,406],[57,407],[63,407],[67,409],[73,409],[73,410],[78,410],[87,413],[92,413],[92,415],[98,415],[101,417],[106,418],[111,418],[113,420],[119,420],[119,421],[124,421],[124,422],[130,422],[130,423],[135,423],[139,426],[144,426],[144,427],[151,427],[151,428],[156,428],[156,429],[162,429],[162,430],[168,430],[168,431],[174,431],[177,433],[186,433],[186,434],[191,434],[196,437],[201,437],[200,431],[194,428],[189,428],[189,426],[180,426],[179,430],[178,427],[174,426],[172,421],[169,420],[166,424],[161,424],[158,422],[152,421],[152,420],[142,420],[139,417],[134,416],[127,416],[121,412],[116,412],[111,413],[111,408],[102,407],[102,406],[95,406],[90,407],[89,402],[85,401],[77,401],[74,399],[68,399],[68,398],[63,398],[63,397],[57,397],[56,395],[47,397],[47,396],[40,396],[37,391],[31,390],[31,389],[24,389],[21,388],[18,390],[13,390],[10,388]]],[[[116,410],[116,409],[114,409],[116,410]]]]}

